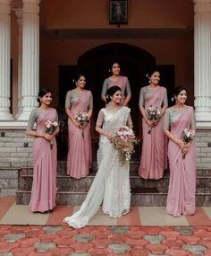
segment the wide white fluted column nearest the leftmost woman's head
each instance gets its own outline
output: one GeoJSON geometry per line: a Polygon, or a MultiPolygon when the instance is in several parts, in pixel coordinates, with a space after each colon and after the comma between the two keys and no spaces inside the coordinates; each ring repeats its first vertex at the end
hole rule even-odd
{"type": "Polygon", "coordinates": [[[19,120],[29,119],[30,111],[38,106],[40,1],[22,1],[22,112],[19,120]]]}

